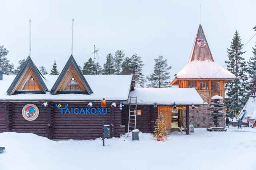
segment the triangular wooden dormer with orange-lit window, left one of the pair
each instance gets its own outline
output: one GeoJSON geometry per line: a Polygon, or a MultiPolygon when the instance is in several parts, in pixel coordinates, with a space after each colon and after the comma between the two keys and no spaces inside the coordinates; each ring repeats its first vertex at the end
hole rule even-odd
{"type": "Polygon", "coordinates": [[[46,94],[48,89],[41,76],[43,77],[30,56],[28,56],[6,93],[8,95],[18,93],[46,94]]]}

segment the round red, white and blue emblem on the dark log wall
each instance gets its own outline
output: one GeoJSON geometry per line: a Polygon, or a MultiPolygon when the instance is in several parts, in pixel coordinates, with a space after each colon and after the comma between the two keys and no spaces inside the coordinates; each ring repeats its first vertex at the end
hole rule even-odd
{"type": "Polygon", "coordinates": [[[39,110],[36,105],[27,104],[22,109],[22,116],[27,121],[34,121],[39,115],[39,110]]]}

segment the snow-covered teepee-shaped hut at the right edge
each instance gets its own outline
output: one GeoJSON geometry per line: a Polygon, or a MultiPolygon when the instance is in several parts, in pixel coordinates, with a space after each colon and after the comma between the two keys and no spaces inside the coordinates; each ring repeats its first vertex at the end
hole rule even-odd
{"type": "Polygon", "coordinates": [[[256,86],[254,87],[246,105],[242,109],[242,112],[238,116],[238,119],[241,119],[246,123],[249,120],[250,126],[256,127],[256,86]]]}

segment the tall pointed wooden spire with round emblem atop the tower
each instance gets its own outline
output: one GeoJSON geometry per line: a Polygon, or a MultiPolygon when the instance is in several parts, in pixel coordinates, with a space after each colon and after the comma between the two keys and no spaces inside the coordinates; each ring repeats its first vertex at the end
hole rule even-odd
{"type": "Polygon", "coordinates": [[[199,25],[198,31],[196,33],[196,38],[193,44],[193,48],[188,63],[194,60],[214,61],[201,24],[199,25]]]}

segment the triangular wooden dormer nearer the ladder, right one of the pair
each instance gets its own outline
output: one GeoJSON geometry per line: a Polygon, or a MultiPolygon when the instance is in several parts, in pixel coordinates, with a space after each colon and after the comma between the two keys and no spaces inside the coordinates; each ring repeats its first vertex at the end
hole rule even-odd
{"type": "Polygon", "coordinates": [[[52,87],[52,95],[63,93],[93,93],[72,55],[52,87]]]}

